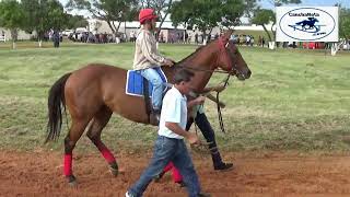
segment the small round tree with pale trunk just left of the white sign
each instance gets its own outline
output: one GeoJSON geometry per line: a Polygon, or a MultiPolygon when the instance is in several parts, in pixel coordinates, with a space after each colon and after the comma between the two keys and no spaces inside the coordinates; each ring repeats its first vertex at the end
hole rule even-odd
{"type": "Polygon", "coordinates": [[[275,36],[273,36],[273,39],[272,39],[271,34],[266,28],[266,25],[271,23],[271,22],[272,22],[272,25],[271,25],[271,31],[272,31],[272,26],[276,23],[276,16],[275,16],[275,12],[272,10],[267,10],[267,9],[256,10],[255,13],[254,13],[254,16],[252,19],[252,23],[253,24],[262,25],[262,28],[266,32],[266,34],[268,35],[270,42],[275,40],[275,36]]]}

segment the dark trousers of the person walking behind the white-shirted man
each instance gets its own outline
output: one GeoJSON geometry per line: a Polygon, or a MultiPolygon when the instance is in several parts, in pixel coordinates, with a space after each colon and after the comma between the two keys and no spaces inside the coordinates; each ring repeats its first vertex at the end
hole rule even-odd
{"type": "Polygon", "coordinates": [[[196,118],[189,118],[186,125],[186,130],[189,130],[190,126],[192,123],[196,121],[196,125],[200,129],[201,134],[206,138],[207,142],[209,142],[209,149],[211,152],[211,158],[212,158],[212,163],[213,166],[218,166],[222,163],[222,159],[219,152],[219,149],[217,147],[217,141],[215,141],[215,134],[214,130],[212,129],[210,123],[208,121],[208,118],[205,113],[200,114],[197,113],[196,118]]]}

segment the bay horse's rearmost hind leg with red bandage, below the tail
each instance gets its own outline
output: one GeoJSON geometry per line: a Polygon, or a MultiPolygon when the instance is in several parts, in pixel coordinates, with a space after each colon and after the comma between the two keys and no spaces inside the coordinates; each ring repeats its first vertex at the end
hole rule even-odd
{"type": "Polygon", "coordinates": [[[72,173],[72,163],[73,163],[73,149],[77,141],[84,132],[85,127],[89,123],[88,118],[74,119],[72,118],[71,128],[65,139],[65,176],[68,178],[68,182],[71,186],[77,184],[75,176],[72,173]]]}

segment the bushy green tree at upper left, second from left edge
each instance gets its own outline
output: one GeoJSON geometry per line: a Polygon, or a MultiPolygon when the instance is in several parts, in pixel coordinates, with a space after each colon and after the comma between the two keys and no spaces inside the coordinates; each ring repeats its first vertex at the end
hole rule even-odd
{"type": "Polygon", "coordinates": [[[59,31],[67,24],[67,14],[58,0],[21,0],[21,2],[25,13],[24,30],[36,32],[39,47],[49,30],[59,31]]]}

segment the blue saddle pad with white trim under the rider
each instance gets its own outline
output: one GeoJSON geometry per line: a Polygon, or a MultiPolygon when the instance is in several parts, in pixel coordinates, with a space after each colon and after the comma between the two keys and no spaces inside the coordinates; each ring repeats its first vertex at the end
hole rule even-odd
{"type": "MultiPolygon", "coordinates": [[[[163,83],[167,83],[167,79],[161,68],[153,68],[162,78],[163,83]]],[[[128,70],[127,83],[125,92],[128,95],[143,96],[143,77],[137,70],[128,70]]],[[[149,82],[149,94],[152,96],[153,85],[149,82]]],[[[165,91],[165,90],[164,90],[165,91]]]]}

